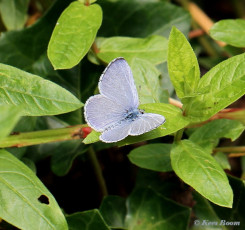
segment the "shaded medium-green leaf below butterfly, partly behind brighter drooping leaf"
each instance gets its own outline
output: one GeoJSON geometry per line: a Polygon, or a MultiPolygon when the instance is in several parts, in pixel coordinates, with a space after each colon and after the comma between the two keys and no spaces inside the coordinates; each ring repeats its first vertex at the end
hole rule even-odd
{"type": "Polygon", "coordinates": [[[159,172],[172,171],[170,161],[171,144],[148,144],[133,149],[128,158],[138,167],[159,172]]]}

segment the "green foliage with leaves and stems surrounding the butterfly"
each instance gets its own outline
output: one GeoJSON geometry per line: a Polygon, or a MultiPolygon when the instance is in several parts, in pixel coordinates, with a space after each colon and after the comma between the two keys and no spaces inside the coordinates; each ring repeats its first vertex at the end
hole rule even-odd
{"type": "MultiPolygon", "coordinates": [[[[179,230],[223,220],[244,228],[244,183],[227,175],[233,170],[227,153],[244,154],[245,147],[222,146],[226,139],[243,143],[244,109],[224,110],[245,94],[242,49],[217,48],[205,37],[205,44],[189,41],[189,12],[164,0],[1,0],[0,13],[1,229],[179,230]],[[27,26],[33,5],[42,16],[27,26]],[[117,57],[132,69],[139,108],[163,115],[166,123],[105,144],[85,124],[82,107],[98,93],[104,66],[117,57]],[[120,194],[108,195],[110,180],[101,166],[106,175],[113,163],[107,165],[105,154],[123,158],[128,152],[127,170],[135,176],[139,168],[138,176],[130,189],[120,185],[120,194]],[[51,190],[58,176],[62,190],[70,189],[63,180],[77,164],[93,170],[95,178],[86,181],[97,181],[94,190],[104,198],[94,205],[92,195],[85,196],[91,205],[70,212],[60,204],[62,191],[51,190]],[[48,170],[48,179],[39,170],[48,170]]],[[[210,36],[244,48],[244,31],[243,19],[221,20],[210,36]]]]}

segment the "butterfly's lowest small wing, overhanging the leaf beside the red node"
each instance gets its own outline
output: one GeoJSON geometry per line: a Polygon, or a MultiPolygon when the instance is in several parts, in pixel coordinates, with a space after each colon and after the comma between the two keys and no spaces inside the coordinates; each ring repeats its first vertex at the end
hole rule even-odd
{"type": "Polygon", "coordinates": [[[100,140],[106,143],[121,141],[128,136],[130,129],[130,122],[124,120],[115,127],[105,130],[100,135],[100,140]]]}

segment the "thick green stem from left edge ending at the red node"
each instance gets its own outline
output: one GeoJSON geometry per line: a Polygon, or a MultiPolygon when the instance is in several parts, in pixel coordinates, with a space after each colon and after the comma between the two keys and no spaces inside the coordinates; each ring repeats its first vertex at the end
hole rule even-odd
{"type": "Polygon", "coordinates": [[[2,139],[0,141],[0,148],[24,147],[56,141],[83,139],[83,128],[85,127],[87,127],[87,125],[76,125],[61,129],[16,133],[2,139]]]}

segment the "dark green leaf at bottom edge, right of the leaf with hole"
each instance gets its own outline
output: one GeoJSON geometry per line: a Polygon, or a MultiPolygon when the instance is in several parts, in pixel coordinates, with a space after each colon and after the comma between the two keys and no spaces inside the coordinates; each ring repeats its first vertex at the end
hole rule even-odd
{"type": "Polygon", "coordinates": [[[68,215],[66,220],[69,230],[110,230],[97,209],[68,215]]]}

